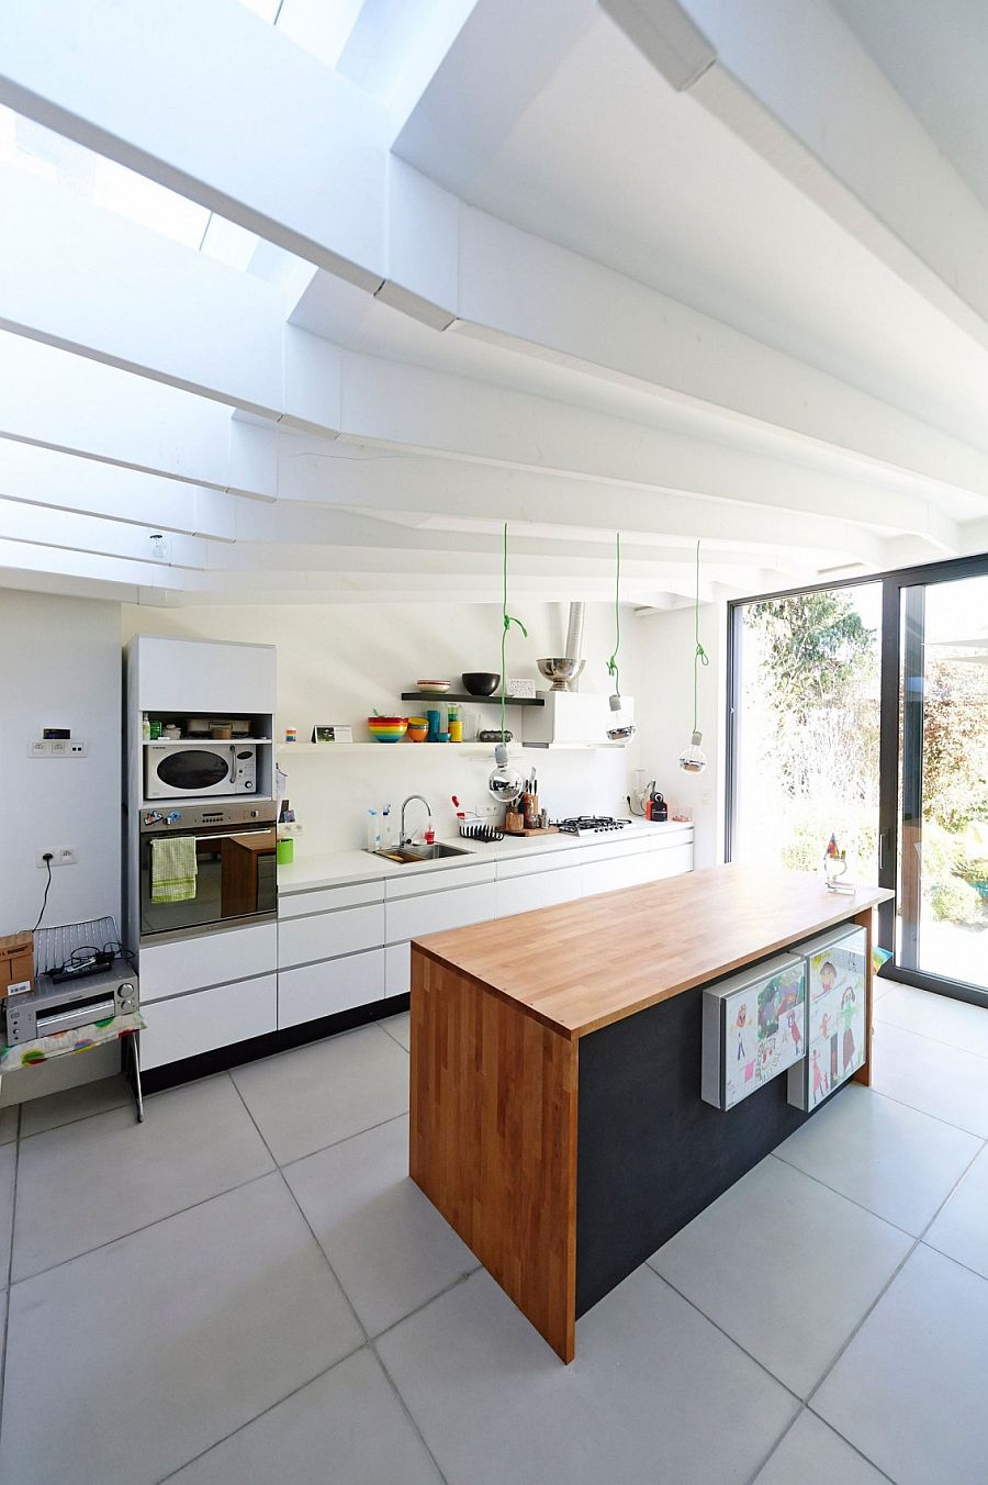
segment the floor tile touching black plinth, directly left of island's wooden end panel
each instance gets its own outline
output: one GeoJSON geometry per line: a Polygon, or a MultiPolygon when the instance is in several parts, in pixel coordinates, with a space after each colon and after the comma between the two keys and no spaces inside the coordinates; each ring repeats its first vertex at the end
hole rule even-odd
{"type": "Polygon", "coordinates": [[[408,1112],[408,1056],[380,1026],[233,1074],[279,1164],[408,1112]]]}

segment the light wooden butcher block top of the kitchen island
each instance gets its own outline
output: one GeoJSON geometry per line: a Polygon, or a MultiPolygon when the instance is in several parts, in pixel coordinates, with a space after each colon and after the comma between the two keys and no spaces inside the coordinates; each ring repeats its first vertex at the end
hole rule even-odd
{"type": "Polygon", "coordinates": [[[412,949],[576,1038],[893,895],[881,887],[828,892],[822,878],[803,872],[714,866],[430,934],[412,949]]]}

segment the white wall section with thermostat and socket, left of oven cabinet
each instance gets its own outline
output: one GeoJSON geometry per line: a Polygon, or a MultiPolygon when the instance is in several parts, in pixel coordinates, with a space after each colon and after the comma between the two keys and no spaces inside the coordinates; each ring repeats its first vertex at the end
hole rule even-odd
{"type": "Polygon", "coordinates": [[[0,588],[0,933],[37,919],[39,851],[71,845],[45,925],[120,921],[120,606],[0,588]],[[30,759],[45,726],[86,738],[85,759],[30,759]]]}

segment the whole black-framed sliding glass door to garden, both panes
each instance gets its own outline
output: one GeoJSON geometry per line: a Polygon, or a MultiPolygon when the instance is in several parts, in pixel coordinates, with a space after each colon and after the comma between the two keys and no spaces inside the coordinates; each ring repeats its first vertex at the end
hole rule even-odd
{"type": "Polygon", "coordinates": [[[895,888],[902,980],[988,1002],[988,557],[730,609],[727,860],[895,888]]]}

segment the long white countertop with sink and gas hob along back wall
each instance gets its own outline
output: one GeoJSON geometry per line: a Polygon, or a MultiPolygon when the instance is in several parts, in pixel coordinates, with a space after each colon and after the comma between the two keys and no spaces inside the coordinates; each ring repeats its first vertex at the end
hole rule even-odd
{"type": "Polygon", "coordinates": [[[639,842],[645,836],[654,839],[676,836],[684,832],[693,833],[691,821],[669,820],[665,824],[650,824],[645,820],[633,820],[623,830],[605,832],[602,835],[506,836],[494,845],[449,836],[442,843],[458,846],[463,849],[463,855],[408,864],[386,861],[383,857],[371,855],[369,851],[323,851],[309,855],[306,854],[303,838],[297,838],[295,860],[291,866],[279,866],[277,869],[277,890],[279,892],[312,892],[320,887],[380,882],[389,876],[405,878],[423,872],[455,872],[457,867],[469,866],[472,861],[509,861],[516,857],[544,855],[546,852],[562,855],[567,851],[590,845],[611,845],[620,851],[623,843],[639,842]]]}

